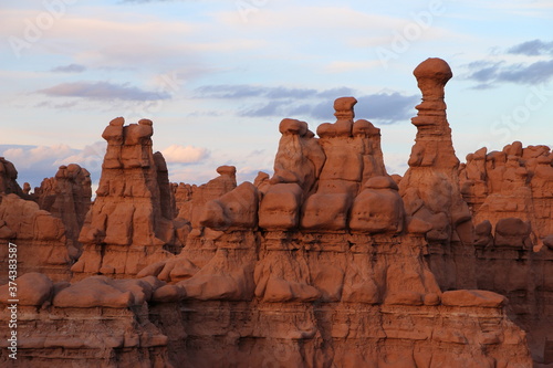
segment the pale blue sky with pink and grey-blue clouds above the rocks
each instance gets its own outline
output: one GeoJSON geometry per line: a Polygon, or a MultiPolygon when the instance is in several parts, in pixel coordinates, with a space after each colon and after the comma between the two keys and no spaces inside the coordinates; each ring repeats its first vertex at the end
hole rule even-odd
{"type": "Polygon", "coordinates": [[[80,164],[97,183],[108,122],[154,122],[169,179],[272,172],[283,118],[310,129],[354,96],[403,175],[413,70],[446,60],[461,161],[514,140],[553,147],[551,0],[0,0],[0,156],[40,186],[80,164]]]}

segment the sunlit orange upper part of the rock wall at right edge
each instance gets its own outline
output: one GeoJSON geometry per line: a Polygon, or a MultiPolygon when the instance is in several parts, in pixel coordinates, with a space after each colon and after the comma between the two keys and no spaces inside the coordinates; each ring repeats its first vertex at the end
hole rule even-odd
{"type": "Polygon", "coordinates": [[[474,223],[488,220],[495,229],[501,219],[520,219],[528,222],[532,243],[541,245],[553,233],[552,161],[550,147],[523,148],[520,141],[502,151],[488,154],[484,147],[468,155],[459,175],[474,223]]]}

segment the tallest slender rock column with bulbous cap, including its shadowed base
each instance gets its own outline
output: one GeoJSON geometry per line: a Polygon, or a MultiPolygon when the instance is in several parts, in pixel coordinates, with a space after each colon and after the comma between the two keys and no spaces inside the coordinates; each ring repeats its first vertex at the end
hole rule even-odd
{"type": "Polygon", "coordinates": [[[459,188],[459,159],[444,101],[452,73],[441,59],[428,59],[413,73],[422,92],[418,114],[411,119],[417,137],[409,169],[400,181],[400,194],[415,229],[428,223],[429,264],[445,290],[474,287],[473,225],[459,188]]]}

